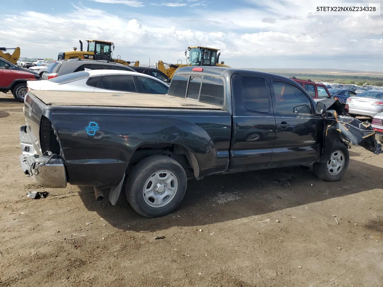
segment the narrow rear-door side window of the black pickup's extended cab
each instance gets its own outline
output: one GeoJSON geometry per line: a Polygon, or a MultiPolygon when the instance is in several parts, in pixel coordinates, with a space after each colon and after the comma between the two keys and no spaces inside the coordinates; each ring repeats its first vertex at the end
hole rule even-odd
{"type": "Polygon", "coordinates": [[[242,96],[247,110],[260,113],[270,111],[269,92],[265,79],[242,77],[242,96]]]}

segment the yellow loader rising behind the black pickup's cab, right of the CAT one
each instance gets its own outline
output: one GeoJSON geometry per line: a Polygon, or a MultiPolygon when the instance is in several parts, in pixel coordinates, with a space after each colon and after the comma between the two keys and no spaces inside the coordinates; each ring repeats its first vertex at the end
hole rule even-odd
{"type": "Polygon", "coordinates": [[[218,52],[218,51],[219,49],[201,47],[201,46],[188,47],[185,50],[185,56],[187,56],[187,53],[189,52],[189,55],[187,56],[187,64],[182,64],[182,60],[178,60],[177,64],[168,64],[160,60],[158,61],[158,63],[156,63],[156,66],[158,70],[160,70],[162,73],[167,75],[169,78],[173,78],[175,71],[181,67],[187,67],[187,66],[229,67],[228,65],[224,65],[225,62],[219,62],[219,55],[221,54],[221,52],[218,52]],[[168,65],[169,68],[165,68],[165,65],[168,65]]]}

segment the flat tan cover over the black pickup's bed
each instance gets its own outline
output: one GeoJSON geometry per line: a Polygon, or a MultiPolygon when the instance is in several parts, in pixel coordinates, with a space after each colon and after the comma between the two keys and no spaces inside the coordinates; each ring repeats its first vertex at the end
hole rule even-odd
{"type": "Polygon", "coordinates": [[[169,95],[39,90],[30,90],[29,93],[32,93],[43,103],[51,106],[223,109],[214,104],[205,104],[193,99],[169,95]]]}

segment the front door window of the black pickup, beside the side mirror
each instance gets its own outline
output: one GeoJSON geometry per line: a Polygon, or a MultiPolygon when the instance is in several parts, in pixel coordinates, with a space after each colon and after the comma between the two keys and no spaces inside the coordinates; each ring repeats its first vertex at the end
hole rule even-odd
{"type": "Polygon", "coordinates": [[[312,114],[311,101],[296,86],[273,81],[273,89],[280,114],[312,114]]]}

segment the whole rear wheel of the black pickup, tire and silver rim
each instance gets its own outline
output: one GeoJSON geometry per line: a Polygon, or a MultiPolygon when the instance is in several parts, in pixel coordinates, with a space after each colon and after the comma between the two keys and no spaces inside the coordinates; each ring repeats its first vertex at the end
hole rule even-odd
{"type": "Polygon", "coordinates": [[[129,173],[125,192],[137,213],[159,217],[177,208],[186,186],[186,173],[178,161],[164,155],[152,155],[137,163],[129,173]]]}

